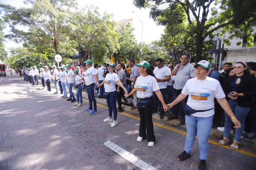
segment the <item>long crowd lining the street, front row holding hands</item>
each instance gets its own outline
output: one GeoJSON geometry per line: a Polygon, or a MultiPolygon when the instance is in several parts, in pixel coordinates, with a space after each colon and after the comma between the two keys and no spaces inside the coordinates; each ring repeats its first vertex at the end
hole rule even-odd
{"type": "Polygon", "coordinates": [[[127,103],[127,98],[132,98],[131,109],[138,109],[140,116],[137,141],[146,138],[151,147],[156,140],[152,114],[158,114],[160,119],[167,116],[169,121],[179,119],[181,125],[186,123],[187,136],[184,151],[177,159],[191,157],[190,150],[197,135],[198,169],[206,169],[208,137],[214,115],[219,115],[218,130],[224,132],[219,145],[228,144],[234,130],[235,138],[230,146],[233,150],[238,149],[244,130],[249,133],[245,140],[256,137],[255,62],[224,63],[218,72],[213,63],[206,60],[190,63],[188,55],[182,54],[180,63],[175,66],[171,61],[165,65],[161,58],[157,58],[154,65],[156,67],[147,61],[135,63],[133,58],[128,64],[102,63],[101,66],[87,60],[76,68],[69,64],[50,68],[45,65],[39,72],[33,66],[22,69],[21,73],[24,80],[33,85],[38,85],[40,78],[43,89],[47,86],[49,92],[52,81],[56,88],[54,94],[59,94],[60,88],[60,98],[75,102],[77,107],[82,106],[82,89],[85,89],[89,108],[84,112],[90,115],[98,113],[95,97],[104,99],[109,113],[103,122],[112,122],[111,127],[117,126],[117,112],[123,111],[121,100],[127,103]],[[77,89],[76,95],[73,86],[77,89]]]}

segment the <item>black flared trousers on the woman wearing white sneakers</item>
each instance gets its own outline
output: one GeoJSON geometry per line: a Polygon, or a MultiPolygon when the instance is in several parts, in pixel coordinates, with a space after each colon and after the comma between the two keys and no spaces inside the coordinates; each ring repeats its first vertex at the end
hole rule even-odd
{"type": "Polygon", "coordinates": [[[139,115],[140,115],[140,128],[139,128],[139,136],[140,137],[146,137],[148,142],[155,142],[156,137],[154,134],[154,127],[153,127],[153,121],[152,121],[152,114],[153,114],[153,99],[151,100],[151,103],[146,108],[139,108],[139,115]],[[146,133],[147,130],[147,133],[146,133]]]}

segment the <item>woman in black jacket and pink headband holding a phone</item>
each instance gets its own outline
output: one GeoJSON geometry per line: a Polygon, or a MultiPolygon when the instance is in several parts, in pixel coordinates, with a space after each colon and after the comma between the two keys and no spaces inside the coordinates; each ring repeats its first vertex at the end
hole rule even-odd
{"type": "MultiPolygon", "coordinates": [[[[238,149],[238,144],[244,130],[246,115],[253,106],[253,96],[256,94],[256,79],[247,74],[247,63],[244,61],[237,62],[234,66],[234,76],[230,76],[225,81],[223,90],[227,96],[228,104],[235,114],[235,117],[241,123],[241,128],[236,129],[235,138],[230,145],[232,150],[238,149]]],[[[232,119],[225,112],[224,137],[219,140],[219,145],[225,145],[229,142],[229,133],[232,127],[232,119]]]]}

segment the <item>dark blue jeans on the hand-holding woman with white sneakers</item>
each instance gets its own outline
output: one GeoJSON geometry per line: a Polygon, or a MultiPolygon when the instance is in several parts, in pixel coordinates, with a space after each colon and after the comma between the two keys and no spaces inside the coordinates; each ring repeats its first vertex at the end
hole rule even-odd
{"type": "Polygon", "coordinates": [[[114,121],[116,121],[117,117],[117,108],[116,108],[116,91],[110,92],[106,97],[107,105],[108,105],[108,116],[112,117],[112,112],[114,115],[114,121]]]}

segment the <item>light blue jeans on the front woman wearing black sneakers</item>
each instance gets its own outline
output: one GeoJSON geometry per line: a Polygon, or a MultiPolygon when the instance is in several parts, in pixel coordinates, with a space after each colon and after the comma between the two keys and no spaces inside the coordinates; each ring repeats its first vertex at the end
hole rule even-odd
{"type": "Polygon", "coordinates": [[[200,118],[194,117],[192,115],[186,115],[186,128],[187,128],[187,136],[184,150],[187,153],[190,153],[190,150],[195,141],[195,137],[197,135],[199,151],[200,151],[200,159],[206,160],[208,155],[208,138],[212,128],[212,120],[213,116],[208,118],[200,118]]]}

